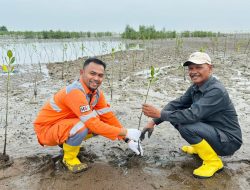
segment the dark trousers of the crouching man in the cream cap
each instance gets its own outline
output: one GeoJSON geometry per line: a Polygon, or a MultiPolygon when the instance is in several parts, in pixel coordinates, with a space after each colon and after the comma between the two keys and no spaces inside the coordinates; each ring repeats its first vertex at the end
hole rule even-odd
{"type": "Polygon", "coordinates": [[[206,123],[172,125],[189,144],[198,144],[205,139],[220,156],[232,155],[241,146],[237,141],[229,139],[224,132],[206,123]]]}

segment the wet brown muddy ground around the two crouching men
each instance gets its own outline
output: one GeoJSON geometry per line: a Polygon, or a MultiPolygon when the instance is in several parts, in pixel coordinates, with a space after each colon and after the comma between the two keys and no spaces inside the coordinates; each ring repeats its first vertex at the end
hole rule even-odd
{"type": "MultiPolygon", "coordinates": [[[[54,92],[78,78],[84,60],[81,58],[42,64],[41,68],[17,65],[9,98],[7,154],[11,159],[8,162],[0,159],[0,189],[249,189],[249,50],[247,43],[236,49],[233,39],[227,40],[226,48],[223,38],[219,40],[219,46],[213,46],[211,42],[210,39],[185,39],[180,52],[176,51],[174,40],[138,42],[142,49],[117,52],[115,58],[102,56],[108,63],[102,90],[121,123],[128,128],[137,128],[149,66],[154,65],[160,70],[159,80],[152,85],[147,102],[163,107],[191,84],[181,63],[193,51],[205,48],[215,65],[214,75],[230,93],[243,131],[243,146],[233,156],[222,157],[225,169],[221,173],[206,180],[194,178],[192,171],[201,160],[180,151],[186,142],[167,122],[157,126],[153,136],[143,141],[143,157],[135,156],[124,142],[95,137],[83,142],[80,152],[80,159],[89,164],[89,170],[80,174],[66,171],[60,157],[59,160],[56,157],[60,148],[41,147],[32,122],[54,92]],[[110,86],[113,87],[112,100],[110,86]],[[37,96],[34,96],[34,89],[37,96]]],[[[3,150],[4,142],[5,79],[1,73],[0,150],[3,150]]],[[[141,128],[147,121],[147,117],[142,118],[141,128]]]]}

